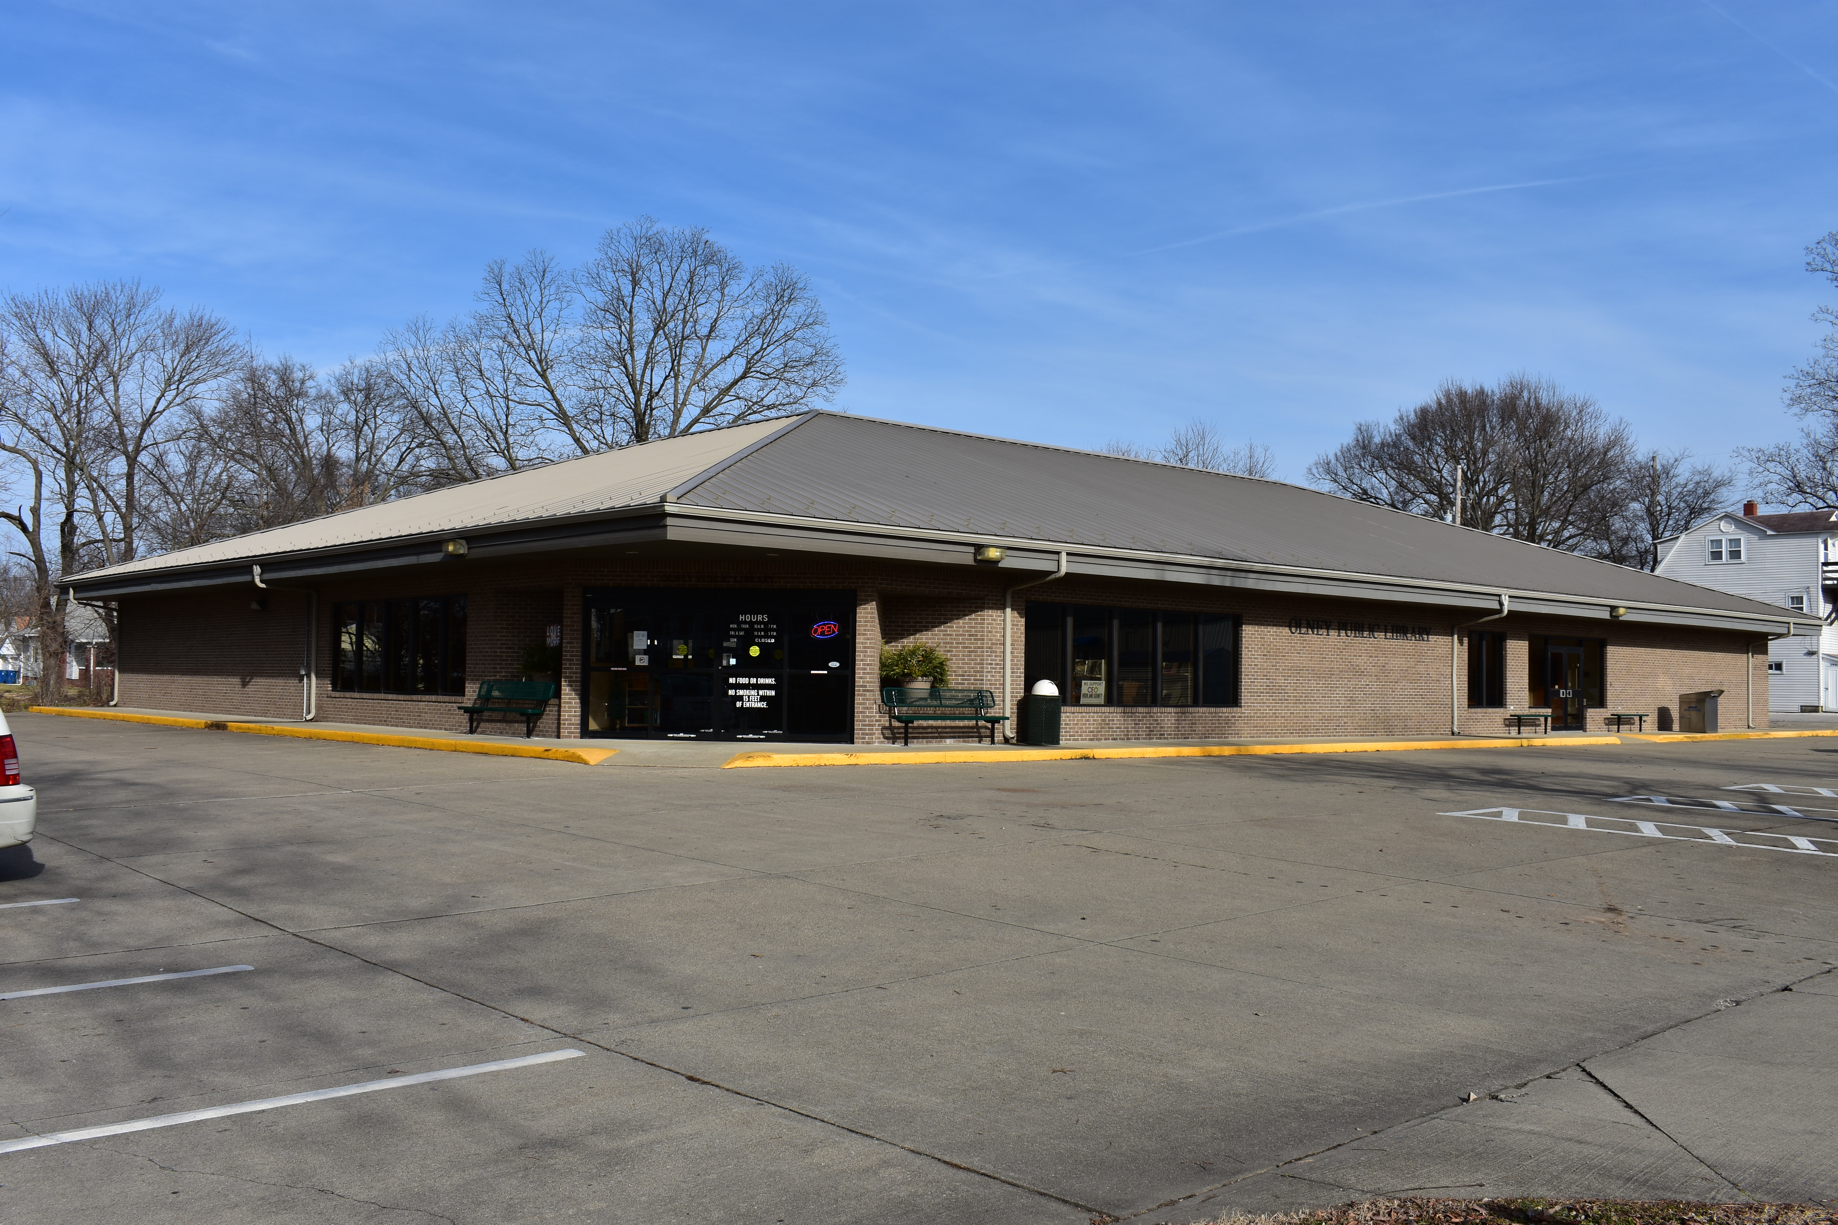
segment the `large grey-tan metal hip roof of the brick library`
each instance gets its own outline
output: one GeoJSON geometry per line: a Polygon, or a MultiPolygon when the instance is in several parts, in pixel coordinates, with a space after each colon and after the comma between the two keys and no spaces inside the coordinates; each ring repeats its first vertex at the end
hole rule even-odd
{"type": "Polygon", "coordinates": [[[1489,610],[1492,593],[1511,591],[1564,606],[1603,604],[1599,615],[1606,615],[1606,604],[1715,612],[1744,628],[1781,612],[1281,481],[833,411],[513,472],[68,582],[79,591],[108,593],[132,590],[136,580],[204,580],[230,566],[241,566],[246,579],[250,564],[298,569],[329,555],[414,542],[421,553],[412,560],[432,560],[439,536],[483,534],[478,544],[487,544],[491,533],[500,533],[528,547],[535,529],[605,531],[638,511],[662,523],[656,531],[671,540],[766,544],[777,540],[772,533],[805,533],[827,540],[831,553],[958,564],[969,564],[965,542],[985,540],[1009,545],[1016,569],[1051,571],[1055,553],[1066,549],[1073,555],[1072,573],[1182,579],[1187,575],[1174,571],[1187,568],[1204,571],[1197,580],[1228,586],[1270,586],[1272,575],[1287,575],[1290,586],[1283,590],[1355,595],[1333,586],[1336,577],[1353,577],[1367,584],[1367,599],[1489,610]],[[516,536],[520,531],[524,536],[516,536]],[[1432,599],[1430,590],[1441,595],[1432,599]],[[1459,599],[1448,599],[1452,593],[1459,599]]]}

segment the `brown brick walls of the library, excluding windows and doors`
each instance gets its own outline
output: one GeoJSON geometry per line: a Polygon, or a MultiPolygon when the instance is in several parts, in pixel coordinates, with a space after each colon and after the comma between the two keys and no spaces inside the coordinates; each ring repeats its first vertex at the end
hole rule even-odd
{"type": "MultiPolygon", "coordinates": [[[[952,661],[952,683],[993,689],[1002,678],[1002,591],[1035,575],[985,568],[855,564],[847,558],[787,555],[630,562],[608,556],[568,564],[441,562],[395,577],[323,580],[320,591],[318,709],[325,722],[390,724],[461,731],[454,696],[340,694],[331,689],[331,604],[347,599],[456,595],[469,601],[467,689],[513,678],[531,641],[562,624],[562,700],[540,735],[573,738],[581,727],[581,604],[597,586],[853,588],[857,591],[855,738],[888,742],[895,729],[879,705],[877,656],[891,645],[928,641],[952,661]]],[[[300,716],[305,597],[272,591],[268,610],[252,612],[254,588],[121,602],[121,703],[136,707],[300,716]]],[[[1470,621],[1430,606],[1386,606],[1261,595],[1231,588],[1062,579],[1015,597],[1011,696],[1024,692],[1026,602],[1220,612],[1242,617],[1241,705],[1070,707],[1066,740],[1228,738],[1310,735],[1447,735],[1450,711],[1450,630],[1470,621]],[[1428,626],[1428,641],[1375,641],[1290,634],[1290,617],[1428,626]]],[[[1623,623],[1566,623],[1511,617],[1487,628],[1507,637],[1507,702],[1524,707],[1527,639],[1537,634],[1606,637],[1608,709],[1654,713],[1676,707],[1678,692],[1724,689],[1722,725],[1746,722],[1744,652],[1750,639],[1709,630],[1623,623]]],[[[1467,650],[1458,652],[1461,727],[1498,733],[1503,711],[1467,709],[1467,650]]],[[[1753,656],[1755,722],[1766,725],[1766,650],[1753,656]]],[[[1009,711],[1013,714],[1013,711],[1009,711]]],[[[1606,711],[1592,711],[1590,727],[1606,711]]],[[[1649,724],[1651,729],[1651,724],[1649,724]]],[[[915,729],[913,740],[970,740],[970,727],[915,729]]]]}

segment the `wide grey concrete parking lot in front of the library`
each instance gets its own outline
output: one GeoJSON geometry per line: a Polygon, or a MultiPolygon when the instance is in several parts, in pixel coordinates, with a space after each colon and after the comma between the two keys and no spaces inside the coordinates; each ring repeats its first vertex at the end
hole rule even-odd
{"type": "Polygon", "coordinates": [[[1838,1201],[1838,740],[722,771],[15,733],[9,1219],[1838,1201]],[[156,981],[18,995],[119,979],[156,981]]]}

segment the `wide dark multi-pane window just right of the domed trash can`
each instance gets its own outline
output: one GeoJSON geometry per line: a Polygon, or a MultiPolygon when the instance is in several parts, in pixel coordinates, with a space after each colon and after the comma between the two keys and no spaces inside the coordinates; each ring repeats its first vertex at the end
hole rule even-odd
{"type": "Polygon", "coordinates": [[[1029,602],[1024,669],[1066,705],[1237,705],[1239,619],[1029,602]]]}

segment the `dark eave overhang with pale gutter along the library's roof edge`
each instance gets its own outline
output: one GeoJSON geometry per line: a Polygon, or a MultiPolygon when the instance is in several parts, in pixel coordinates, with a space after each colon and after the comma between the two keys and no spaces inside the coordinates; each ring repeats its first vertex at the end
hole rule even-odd
{"type": "MultiPolygon", "coordinates": [[[[614,512],[596,511],[583,516],[544,520],[535,525],[448,529],[384,544],[318,549],[274,558],[250,556],[239,562],[116,577],[108,577],[103,571],[88,580],[81,575],[70,579],[68,586],[83,599],[116,599],[121,595],[244,584],[250,582],[252,566],[261,566],[263,582],[285,586],[366,569],[456,564],[456,558],[448,558],[441,549],[445,540],[456,536],[467,540],[467,556],[478,560],[669,540],[985,569],[972,560],[972,547],[994,544],[1009,551],[1007,560],[1002,564],[1004,571],[1051,573],[1059,566],[1061,553],[1061,545],[1053,542],[1029,538],[937,529],[921,533],[910,527],[877,523],[761,514],[689,503],[651,503],[614,512]]],[[[1068,545],[1066,555],[1068,573],[1106,579],[1191,582],[1287,595],[1489,612],[1498,608],[1500,595],[1505,593],[1511,597],[1513,612],[1516,613],[1610,621],[1610,608],[1619,606],[1627,610],[1619,621],[1634,624],[1673,624],[1774,635],[1788,632],[1787,617],[1770,617],[1766,613],[1638,601],[1614,604],[1597,597],[1551,595],[1548,591],[1502,590],[1478,584],[1362,575],[1108,545],[1068,545]]]]}

